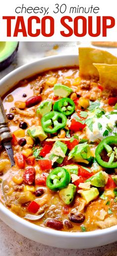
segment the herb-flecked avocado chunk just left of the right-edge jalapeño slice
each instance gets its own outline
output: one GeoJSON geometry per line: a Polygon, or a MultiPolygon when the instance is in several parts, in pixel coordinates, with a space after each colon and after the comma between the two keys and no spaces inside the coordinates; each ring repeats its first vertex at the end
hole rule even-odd
{"type": "Polygon", "coordinates": [[[68,154],[68,160],[89,164],[91,161],[91,150],[87,142],[76,145],[68,154]]]}

